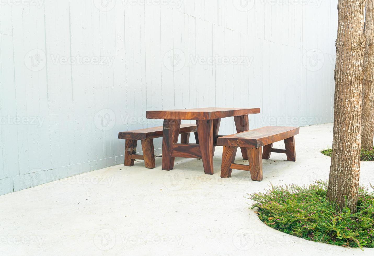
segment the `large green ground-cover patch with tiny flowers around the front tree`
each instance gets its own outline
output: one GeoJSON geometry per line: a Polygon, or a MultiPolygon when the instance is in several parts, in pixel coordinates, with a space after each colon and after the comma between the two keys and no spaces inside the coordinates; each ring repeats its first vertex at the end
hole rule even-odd
{"type": "MultiPolygon", "coordinates": [[[[372,189],[373,186],[371,186],[372,189]]],[[[359,189],[357,213],[339,212],[326,200],[327,182],[309,186],[270,185],[248,194],[266,225],[306,240],[344,247],[374,247],[374,192],[359,189]]]]}

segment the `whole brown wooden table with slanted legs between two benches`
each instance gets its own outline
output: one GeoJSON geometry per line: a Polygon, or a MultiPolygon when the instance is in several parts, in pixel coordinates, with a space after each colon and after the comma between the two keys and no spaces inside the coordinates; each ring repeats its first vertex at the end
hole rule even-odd
{"type": "MultiPolygon", "coordinates": [[[[147,118],[163,119],[162,170],[174,168],[175,157],[201,158],[205,174],[214,174],[213,155],[221,118],[234,117],[236,131],[249,130],[248,114],[258,114],[260,108],[193,108],[185,110],[147,111],[147,118]],[[177,144],[181,120],[196,120],[197,144],[177,144]]],[[[243,159],[248,159],[241,148],[243,159]]]]}

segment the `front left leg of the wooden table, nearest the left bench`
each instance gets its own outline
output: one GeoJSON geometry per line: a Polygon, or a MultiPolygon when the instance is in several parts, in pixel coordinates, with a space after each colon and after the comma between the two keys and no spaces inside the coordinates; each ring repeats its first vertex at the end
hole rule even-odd
{"type": "Polygon", "coordinates": [[[174,159],[172,157],[173,144],[178,142],[179,128],[181,120],[165,119],[163,123],[162,134],[162,170],[172,170],[174,168],[174,159]]]}

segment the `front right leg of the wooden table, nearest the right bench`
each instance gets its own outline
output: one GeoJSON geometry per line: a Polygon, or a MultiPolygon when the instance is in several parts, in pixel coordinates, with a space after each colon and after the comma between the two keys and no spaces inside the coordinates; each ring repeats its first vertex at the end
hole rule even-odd
{"type": "Polygon", "coordinates": [[[201,160],[205,174],[214,174],[213,170],[213,120],[196,120],[201,160]]]}

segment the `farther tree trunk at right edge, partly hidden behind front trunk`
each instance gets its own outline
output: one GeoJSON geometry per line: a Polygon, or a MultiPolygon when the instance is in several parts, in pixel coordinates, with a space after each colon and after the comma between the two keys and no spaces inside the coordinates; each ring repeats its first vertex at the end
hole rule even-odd
{"type": "Polygon", "coordinates": [[[373,148],[374,138],[374,0],[366,1],[366,50],[362,85],[361,148],[373,148]]]}

